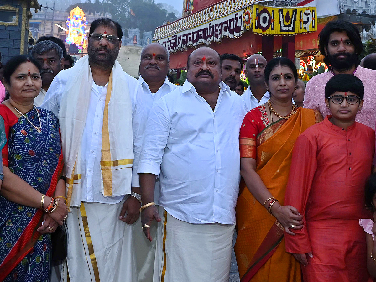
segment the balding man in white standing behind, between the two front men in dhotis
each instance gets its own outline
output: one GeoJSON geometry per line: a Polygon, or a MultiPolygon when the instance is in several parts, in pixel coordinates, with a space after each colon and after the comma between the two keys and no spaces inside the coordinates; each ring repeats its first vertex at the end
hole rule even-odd
{"type": "MultiPolygon", "coordinates": [[[[133,152],[134,162],[132,171],[132,190],[139,190],[139,178],[137,174],[139,155],[144,139],[147,117],[153,103],[178,88],[167,79],[168,62],[170,53],[162,44],[151,43],[141,51],[141,61],[139,65],[140,77],[139,91],[135,92],[133,98],[133,152]]],[[[137,192],[139,193],[139,192],[137,192]]],[[[159,198],[159,179],[155,183],[155,200],[158,203],[159,198]]],[[[134,239],[133,245],[136,246],[136,261],[138,270],[138,282],[153,281],[153,269],[155,258],[155,240],[150,242],[144,236],[141,230],[141,220],[138,219],[133,224],[134,239]]],[[[153,224],[150,232],[155,235],[156,224],[153,224]]]]}

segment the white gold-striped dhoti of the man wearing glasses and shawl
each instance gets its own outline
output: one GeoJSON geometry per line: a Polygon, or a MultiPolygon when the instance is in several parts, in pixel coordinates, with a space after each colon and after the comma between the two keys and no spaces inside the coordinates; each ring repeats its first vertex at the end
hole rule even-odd
{"type": "Polygon", "coordinates": [[[70,208],[67,264],[71,282],[137,282],[132,226],[119,220],[117,204],[70,208]]]}

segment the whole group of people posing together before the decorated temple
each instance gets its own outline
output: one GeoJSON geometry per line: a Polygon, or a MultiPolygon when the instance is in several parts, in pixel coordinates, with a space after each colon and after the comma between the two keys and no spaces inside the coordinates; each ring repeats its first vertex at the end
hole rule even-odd
{"type": "Polygon", "coordinates": [[[254,54],[245,91],[210,47],[179,87],[149,44],[137,80],[122,36],[100,18],[74,65],[53,37],[0,65],[0,281],[227,282],[234,232],[241,282],[376,277],[376,60],[353,24],[320,32],[328,72],[254,54]]]}

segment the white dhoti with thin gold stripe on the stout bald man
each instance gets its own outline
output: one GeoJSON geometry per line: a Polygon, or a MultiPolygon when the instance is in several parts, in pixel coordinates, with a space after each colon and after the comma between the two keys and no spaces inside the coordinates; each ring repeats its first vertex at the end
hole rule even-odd
{"type": "Polygon", "coordinates": [[[191,224],[159,207],[153,282],[228,282],[235,224],[191,224]]]}

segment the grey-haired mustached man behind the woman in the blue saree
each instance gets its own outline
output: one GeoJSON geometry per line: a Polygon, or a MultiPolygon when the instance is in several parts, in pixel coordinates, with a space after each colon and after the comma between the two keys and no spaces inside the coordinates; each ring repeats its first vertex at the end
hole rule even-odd
{"type": "Polygon", "coordinates": [[[31,55],[42,67],[42,88],[39,95],[34,99],[34,105],[40,107],[52,80],[61,70],[64,69],[65,59],[61,47],[50,41],[41,41],[33,47],[31,55]]]}

